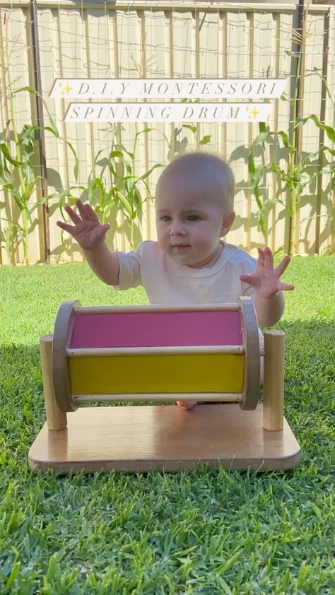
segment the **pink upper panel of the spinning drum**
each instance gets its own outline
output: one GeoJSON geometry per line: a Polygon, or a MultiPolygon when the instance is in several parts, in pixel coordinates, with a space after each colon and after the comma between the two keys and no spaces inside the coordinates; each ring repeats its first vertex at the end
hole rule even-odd
{"type": "Polygon", "coordinates": [[[70,348],[242,345],[240,312],[76,314],[70,348]]]}

